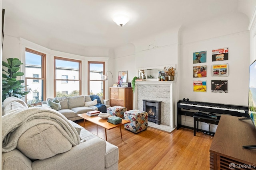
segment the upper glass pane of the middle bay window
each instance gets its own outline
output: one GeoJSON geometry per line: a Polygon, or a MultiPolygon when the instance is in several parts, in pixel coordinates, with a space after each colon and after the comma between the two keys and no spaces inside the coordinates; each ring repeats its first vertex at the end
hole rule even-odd
{"type": "Polygon", "coordinates": [[[73,61],[55,60],[56,79],[79,78],[79,63],[73,61]],[[65,77],[62,77],[65,76],[65,77]]]}

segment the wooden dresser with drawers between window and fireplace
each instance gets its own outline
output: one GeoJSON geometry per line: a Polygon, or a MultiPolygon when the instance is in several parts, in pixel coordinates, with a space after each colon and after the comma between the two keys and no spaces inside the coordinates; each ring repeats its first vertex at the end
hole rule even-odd
{"type": "Polygon", "coordinates": [[[133,109],[133,93],[131,87],[110,87],[110,106],[123,106],[133,109]]]}

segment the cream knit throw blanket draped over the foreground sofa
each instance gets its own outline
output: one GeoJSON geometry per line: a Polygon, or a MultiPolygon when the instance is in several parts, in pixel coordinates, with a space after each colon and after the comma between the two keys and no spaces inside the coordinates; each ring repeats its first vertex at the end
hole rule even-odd
{"type": "Polygon", "coordinates": [[[76,129],[58,111],[30,107],[2,117],[2,152],[10,152],[15,149],[20,136],[38,124],[54,125],[73,146],[80,142],[76,129]]]}

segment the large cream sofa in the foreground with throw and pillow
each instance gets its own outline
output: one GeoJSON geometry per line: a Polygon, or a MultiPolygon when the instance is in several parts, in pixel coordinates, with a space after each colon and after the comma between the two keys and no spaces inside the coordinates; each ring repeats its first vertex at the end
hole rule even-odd
{"type": "Polygon", "coordinates": [[[22,100],[15,97],[8,101],[3,102],[3,170],[118,169],[119,153],[115,145],[53,109],[28,108],[22,100]],[[66,129],[70,131],[66,132],[66,129]],[[67,137],[69,133],[71,135],[67,137]],[[16,144],[9,141],[16,137],[16,144]],[[70,138],[72,141],[77,139],[77,144],[71,144],[70,138]]]}

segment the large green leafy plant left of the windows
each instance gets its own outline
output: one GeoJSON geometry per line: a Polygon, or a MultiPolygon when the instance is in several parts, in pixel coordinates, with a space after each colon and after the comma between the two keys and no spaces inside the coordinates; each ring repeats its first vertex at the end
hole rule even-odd
{"type": "Polygon", "coordinates": [[[22,85],[24,80],[17,80],[17,76],[23,76],[24,73],[20,72],[20,65],[23,64],[17,58],[9,58],[7,62],[2,61],[2,66],[8,68],[6,71],[2,68],[2,100],[14,96],[16,98],[22,98],[30,91],[24,91],[25,86],[22,85]],[[4,74],[7,73],[7,74],[4,74]]]}

